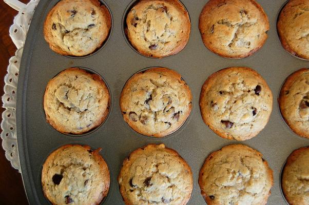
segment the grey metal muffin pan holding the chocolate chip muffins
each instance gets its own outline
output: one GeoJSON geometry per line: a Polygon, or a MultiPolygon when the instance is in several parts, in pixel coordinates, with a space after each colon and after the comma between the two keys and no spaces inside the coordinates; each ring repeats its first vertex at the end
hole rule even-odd
{"type": "Polygon", "coordinates": [[[309,67],[308,61],[288,54],[277,37],[276,20],[285,0],[258,0],[268,15],[271,30],[265,45],[255,54],[243,59],[226,59],[210,52],[203,44],[198,29],[200,12],[207,0],[182,0],[191,19],[188,44],[180,53],[162,59],[144,57],[127,44],[122,19],[131,0],[104,0],[113,16],[113,28],[106,45],[84,58],[61,56],[49,49],[43,36],[43,24],[49,10],[59,0],[41,0],[37,5],[27,35],[17,88],[17,141],[22,175],[30,204],[50,204],[41,187],[42,165],[47,156],[66,144],[101,147],[101,155],[110,170],[111,185],[104,204],[124,204],[117,176],[123,159],[133,150],[150,143],[164,143],[175,149],[188,162],[194,177],[190,205],[206,204],[198,185],[198,175],[205,158],[229,144],[244,144],[263,154],[274,171],[274,187],[268,198],[271,205],[285,204],[280,191],[280,171],[287,156],[295,149],[308,146],[309,140],[298,137],[285,125],[276,99],[285,78],[292,72],[309,67]],[[274,95],[273,113],[265,129],[246,141],[230,141],[217,136],[203,122],[199,96],[206,78],[227,67],[250,67],[267,81],[274,95]],[[110,113],[101,127],[93,132],[73,137],[57,132],[45,119],[43,96],[48,81],[69,67],[85,67],[99,73],[109,86],[110,113]],[[133,131],[123,120],[119,98],[126,81],[137,71],[148,67],[176,70],[192,92],[192,111],[185,124],[163,138],[146,137],[133,131]]]}

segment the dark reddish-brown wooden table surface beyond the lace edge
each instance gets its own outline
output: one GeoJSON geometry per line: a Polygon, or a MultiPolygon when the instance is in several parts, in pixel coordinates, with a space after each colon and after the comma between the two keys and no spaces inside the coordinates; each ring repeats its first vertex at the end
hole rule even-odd
{"type": "MultiPolygon", "coordinates": [[[[20,1],[23,3],[29,2],[29,0],[20,1]]],[[[17,11],[6,5],[3,0],[0,0],[0,96],[4,94],[4,76],[7,73],[9,58],[13,56],[16,51],[16,47],[9,36],[9,28],[13,24],[13,18],[16,14],[17,11]]],[[[4,111],[2,106],[0,111],[1,114],[4,111]]],[[[5,157],[2,146],[0,146],[0,204],[28,204],[22,175],[12,168],[11,163],[5,157]]]]}

